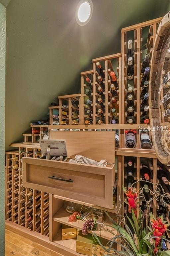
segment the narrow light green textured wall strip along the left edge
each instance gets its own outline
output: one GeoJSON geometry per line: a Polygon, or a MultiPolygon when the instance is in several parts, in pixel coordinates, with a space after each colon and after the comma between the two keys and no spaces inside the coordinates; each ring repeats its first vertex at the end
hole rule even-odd
{"type": "Polygon", "coordinates": [[[0,255],[4,256],[5,222],[5,7],[0,3],[0,255]]]}

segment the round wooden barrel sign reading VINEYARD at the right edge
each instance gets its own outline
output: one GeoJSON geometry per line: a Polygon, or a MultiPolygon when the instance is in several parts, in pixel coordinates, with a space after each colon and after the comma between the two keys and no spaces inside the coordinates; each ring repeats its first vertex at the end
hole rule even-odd
{"type": "Polygon", "coordinates": [[[149,117],[157,158],[170,165],[170,12],[159,24],[151,59],[149,117]]]}

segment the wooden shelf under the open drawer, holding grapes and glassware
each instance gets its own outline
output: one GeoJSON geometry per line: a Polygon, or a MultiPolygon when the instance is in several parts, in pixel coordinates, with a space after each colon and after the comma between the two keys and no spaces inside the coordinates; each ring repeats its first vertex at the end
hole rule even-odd
{"type": "MultiPolygon", "coordinates": [[[[73,228],[76,229],[81,229],[83,227],[83,221],[82,220],[77,220],[75,222],[68,222],[68,216],[70,216],[69,213],[65,212],[65,210],[63,208],[61,208],[54,216],[53,216],[53,221],[57,221],[59,223],[71,226],[73,228]]],[[[101,236],[105,239],[112,239],[113,238],[113,234],[108,232],[108,231],[94,231],[96,233],[96,235],[101,236]]],[[[115,234],[117,233],[116,230],[114,230],[115,234]]],[[[91,233],[90,231],[88,231],[88,233],[91,233]]]]}

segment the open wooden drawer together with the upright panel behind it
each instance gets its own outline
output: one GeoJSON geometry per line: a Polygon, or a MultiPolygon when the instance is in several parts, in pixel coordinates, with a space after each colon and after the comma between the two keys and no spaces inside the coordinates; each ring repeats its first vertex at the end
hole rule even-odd
{"type": "Polygon", "coordinates": [[[23,157],[23,186],[111,209],[115,132],[55,131],[52,139],[66,140],[68,158],[82,154],[96,161],[112,162],[100,167],[23,157]]]}

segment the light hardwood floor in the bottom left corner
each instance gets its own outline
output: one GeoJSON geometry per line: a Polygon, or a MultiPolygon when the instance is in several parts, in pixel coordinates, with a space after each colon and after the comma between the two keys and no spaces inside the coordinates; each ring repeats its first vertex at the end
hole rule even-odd
{"type": "Polygon", "coordinates": [[[42,245],[34,243],[30,239],[5,231],[5,256],[62,256],[42,245]]]}

